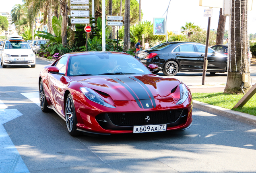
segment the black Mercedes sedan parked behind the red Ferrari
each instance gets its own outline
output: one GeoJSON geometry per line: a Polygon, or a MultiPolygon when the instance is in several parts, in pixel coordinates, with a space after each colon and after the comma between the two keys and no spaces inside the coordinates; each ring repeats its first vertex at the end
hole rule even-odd
{"type": "MultiPolygon", "coordinates": [[[[136,52],[135,58],[145,66],[157,64],[156,72],[163,71],[166,76],[177,72],[202,72],[205,45],[195,42],[165,42],[147,50],[136,52]]],[[[208,67],[206,72],[215,74],[227,71],[227,55],[208,48],[208,67]]]]}

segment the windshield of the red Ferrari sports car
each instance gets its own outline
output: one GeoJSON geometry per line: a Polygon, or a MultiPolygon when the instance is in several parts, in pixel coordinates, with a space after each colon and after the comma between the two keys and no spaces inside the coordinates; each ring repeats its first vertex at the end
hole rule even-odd
{"type": "Polygon", "coordinates": [[[68,76],[151,74],[140,61],[126,54],[88,54],[71,56],[68,76]]]}

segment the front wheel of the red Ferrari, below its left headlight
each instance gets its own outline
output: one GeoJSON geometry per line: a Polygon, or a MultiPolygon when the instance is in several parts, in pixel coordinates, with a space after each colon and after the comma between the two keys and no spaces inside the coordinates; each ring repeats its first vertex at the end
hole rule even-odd
{"type": "Polygon", "coordinates": [[[76,110],[74,107],[74,101],[72,99],[72,95],[68,94],[66,99],[66,106],[65,106],[65,118],[66,118],[66,125],[68,132],[71,136],[78,136],[79,133],[76,129],[77,119],[76,119],[76,110]]]}

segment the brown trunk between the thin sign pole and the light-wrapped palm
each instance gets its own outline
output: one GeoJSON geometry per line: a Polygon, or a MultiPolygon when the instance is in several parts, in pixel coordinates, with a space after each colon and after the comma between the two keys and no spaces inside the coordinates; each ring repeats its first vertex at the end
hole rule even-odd
{"type": "Polygon", "coordinates": [[[225,24],[227,16],[222,15],[222,8],[219,10],[219,23],[216,36],[216,44],[223,44],[225,24]]]}

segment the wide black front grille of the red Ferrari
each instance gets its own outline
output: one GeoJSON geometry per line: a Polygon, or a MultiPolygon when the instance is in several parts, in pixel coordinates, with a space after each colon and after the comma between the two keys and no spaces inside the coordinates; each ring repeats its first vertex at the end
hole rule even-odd
{"type": "Polygon", "coordinates": [[[157,112],[108,113],[107,115],[111,122],[117,126],[158,125],[174,123],[179,119],[182,111],[183,109],[157,112]],[[147,116],[150,118],[148,122],[146,121],[147,116]]]}

